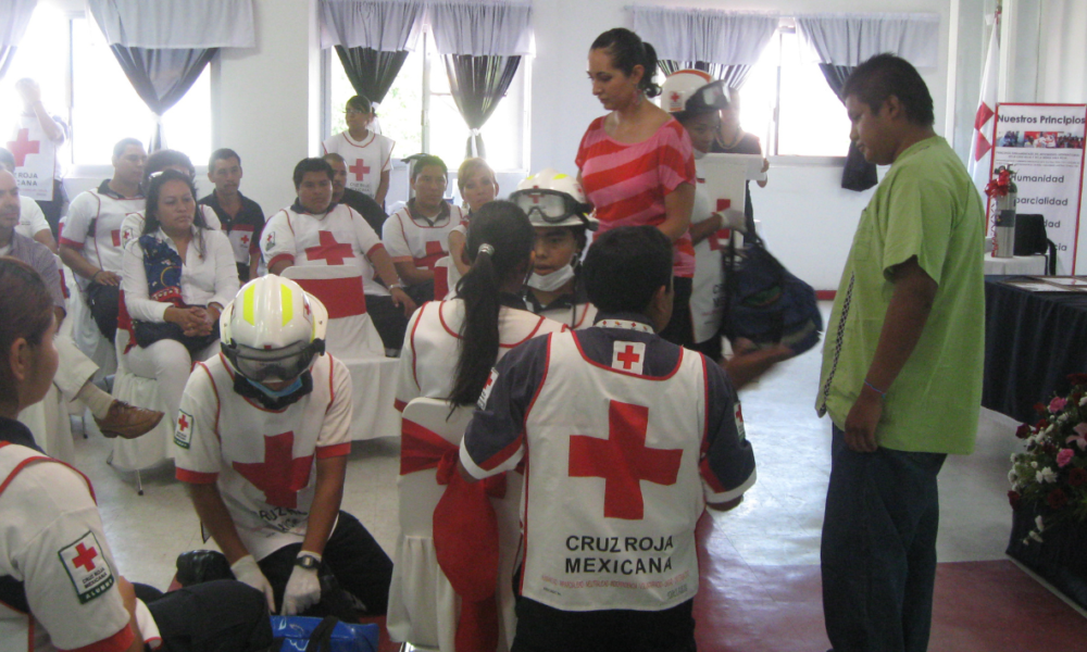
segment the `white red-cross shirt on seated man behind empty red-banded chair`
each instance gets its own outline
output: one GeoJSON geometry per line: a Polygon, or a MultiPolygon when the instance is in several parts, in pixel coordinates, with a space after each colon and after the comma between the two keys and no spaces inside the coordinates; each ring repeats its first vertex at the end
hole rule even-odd
{"type": "Polygon", "coordinates": [[[261,235],[261,253],[270,268],[280,261],[364,268],[364,259],[382,247],[374,229],[347,204],[314,215],[296,203],[273,215],[261,235]]]}

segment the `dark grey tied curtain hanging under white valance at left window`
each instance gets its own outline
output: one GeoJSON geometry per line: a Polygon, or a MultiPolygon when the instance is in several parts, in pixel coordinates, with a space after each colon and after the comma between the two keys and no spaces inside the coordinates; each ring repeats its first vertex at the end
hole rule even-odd
{"type": "MultiPolygon", "coordinates": [[[[192,88],[203,68],[218,52],[208,49],[152,49],[110,46],[121,70],[155,115],[162,115],[192,88]]],[[[165,147],[162,124],[157,123],[148,152],[165,147]]]]}

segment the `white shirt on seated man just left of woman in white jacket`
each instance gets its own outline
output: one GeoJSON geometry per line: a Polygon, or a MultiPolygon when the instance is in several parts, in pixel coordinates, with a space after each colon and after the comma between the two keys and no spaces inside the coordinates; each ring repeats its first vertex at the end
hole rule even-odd
{"type": "Polygon", "coordinates": [[[80,192],[61,221],[61,244],[78,250],[100,269],[121,274],[124,263],[122,225],[128,215],[142,212],[143,204],[142,197],[124,198],[113,192],[109,181],[80,192]]]}

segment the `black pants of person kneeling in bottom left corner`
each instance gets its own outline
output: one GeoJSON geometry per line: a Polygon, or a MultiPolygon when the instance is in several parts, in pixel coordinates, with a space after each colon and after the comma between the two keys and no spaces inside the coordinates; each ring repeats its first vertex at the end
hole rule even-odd
{"type": "Polygon", "coordinates": [[[134,585],[168,652],[263,652],[272,645],[264,594],[240,581],[208,581],[160,593],[134,585]]]}

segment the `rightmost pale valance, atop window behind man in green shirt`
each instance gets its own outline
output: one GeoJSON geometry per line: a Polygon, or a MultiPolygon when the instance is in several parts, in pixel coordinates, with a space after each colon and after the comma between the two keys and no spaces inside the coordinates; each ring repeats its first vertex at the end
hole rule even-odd
{"type": "Polygon", "coordinates": [[[855,66],[891,52],[919,68],[936,67],[940,17],[929,13],[799,14],[797,36],[817,63],[855,66]]]}

